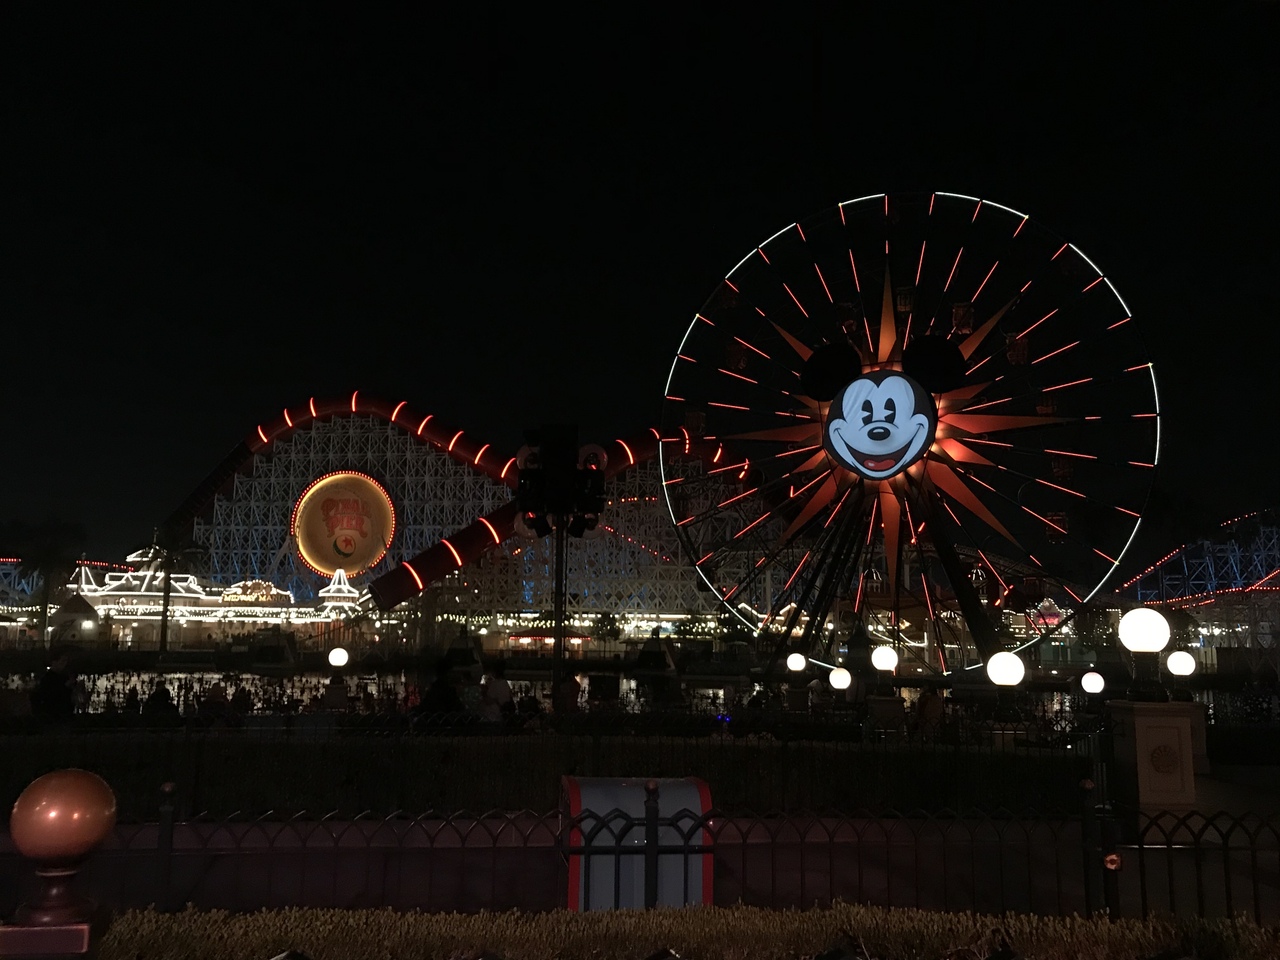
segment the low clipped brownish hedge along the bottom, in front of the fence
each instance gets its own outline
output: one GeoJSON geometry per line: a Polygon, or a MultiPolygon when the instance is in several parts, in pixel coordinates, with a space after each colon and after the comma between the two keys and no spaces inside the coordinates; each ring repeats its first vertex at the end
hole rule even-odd
{"type": "Polygon", "coordinates": [[[691,908],[649,913],[415,914],[275,910],[131,911],[111,924],[101,960],[803,960],[842,947],[858,960],[980,960],[1006,942],[1027,960],[1276,960],[1280,934],[1245,920],[1085,920],[982,916],[838,904],[809,911],[691,908]]]}

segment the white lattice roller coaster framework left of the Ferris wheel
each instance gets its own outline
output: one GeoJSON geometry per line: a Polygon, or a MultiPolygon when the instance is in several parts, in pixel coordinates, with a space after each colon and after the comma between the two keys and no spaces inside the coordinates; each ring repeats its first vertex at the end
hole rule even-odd
{"type": "MultiPolygon", "coordinates": [[[[300,603],[314,600],[326,581],[298,558],[289,520],[307,484],[329,472],[367,474],[387,489],[396,507],[390,549],[353,580],[357,588],[403,570],[404,561],[433,548],[439,550],[451,536],[458,541],[456,531],[475,527],[477,518],[497,516],[512,503],[508,476],[513,479],[516,468],[509,458],[493,453],[488,444],[460,440],[461,430],[428,428],[431,417],[398,416],[403,404],[393,408],[364,398],[358,403],[361,411],[371,412],[351,412],[343,401],[320,404],[319,416],[308,422],[296,422],[293,413],[274,428],[259,428],[256,442],[238,458],[229,458],[236,468],[224,470],[220,480],[215,471],[216,493],[191,509],[191,539],[204,549],[204,568],[196,572],[224,586],[266,580],[288,589],[300,603]]],[[[353,396],[349,407],[356,404],[353,396]]],[[[625,444],[614,451],[625,468],[611,471],[600,524],[589,536],[570,540],[568,612],[714,612],[714,598],[700,589],[680,556],[658,463],[644,458],[627,463],[631,453],[625,444]]],[[[549,608],[552,540],[497,539],[483,552],[467,553],[463,547],[465,563],[430,579],[438,613],[480,621],[549,608]]]]}

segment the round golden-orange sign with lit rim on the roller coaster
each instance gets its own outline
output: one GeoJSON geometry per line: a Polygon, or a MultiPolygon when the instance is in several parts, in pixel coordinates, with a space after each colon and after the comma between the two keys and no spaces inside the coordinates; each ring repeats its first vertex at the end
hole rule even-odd
{"type": "Polygon", "coordinates": [[[362,573],[396,535],[392,498],[374,477],[343,470],[312,480],[293,504],[289,531],[298,556],[316,573],[362,573]]]}

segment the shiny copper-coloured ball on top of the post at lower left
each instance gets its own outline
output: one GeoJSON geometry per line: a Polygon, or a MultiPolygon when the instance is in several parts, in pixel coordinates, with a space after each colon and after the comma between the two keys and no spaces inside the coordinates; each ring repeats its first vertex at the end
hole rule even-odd
{"type": "Polygon", "coordinates": [[[115,827],[115,794],[96,773],[54,771],[33,780],[9,818],[13,845],[46,865],[72,865],[88,856],[115,827]]]}

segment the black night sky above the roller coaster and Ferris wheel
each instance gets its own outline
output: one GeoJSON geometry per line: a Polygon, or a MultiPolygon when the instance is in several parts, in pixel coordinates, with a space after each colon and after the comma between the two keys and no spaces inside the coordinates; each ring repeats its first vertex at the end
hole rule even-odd
{"type": "Polygon", "coordinates": [[[370,6],[0,9],[0,521],[119,559],[353,389],[512,452],[636,433],[744,253],[932,189],[1073,241],[1142,324],[1130,561],[1275,504],[1276,5],[370,6]]]}

